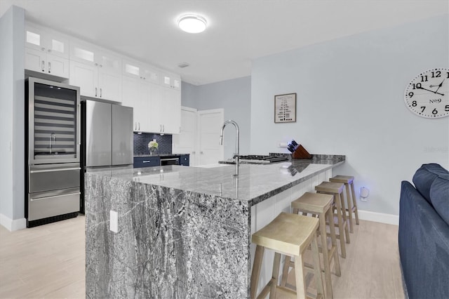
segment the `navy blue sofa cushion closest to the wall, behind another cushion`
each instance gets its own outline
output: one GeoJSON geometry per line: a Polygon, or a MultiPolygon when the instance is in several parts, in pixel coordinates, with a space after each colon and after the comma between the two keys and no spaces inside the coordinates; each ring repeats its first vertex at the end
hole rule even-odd
{"type": "Polygon", "coordinates": [[[429,204],[432,204],[430,200],[430,187],[432,182],[438,178],[438,175],[447,174],[449,174],[449,172],[439,164],[422,164],[415,175],[413,175],[413,184],[415,184],[416,189],[422,196],[429,201],[429,204]]]}

